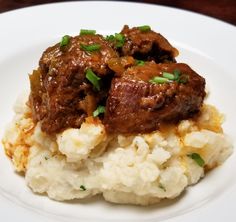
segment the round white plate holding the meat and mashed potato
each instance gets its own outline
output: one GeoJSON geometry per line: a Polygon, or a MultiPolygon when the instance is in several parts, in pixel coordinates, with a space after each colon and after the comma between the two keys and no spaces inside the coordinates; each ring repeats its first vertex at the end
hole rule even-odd
{"type": "MultiPolygon", "coordinates": [[[[27,74],[42,51],[81,28],[101,34],[150,25],[180,50],[207,80],[209,102],[226,114],[224,128],[236,135],[236,28],[198,14],[125,2],[70,2],[16,10],[0,15],[0,135],[13,116],[17,95],[28,88],[27,74]]],[[[235,143],[234,143],[235,146],[235,143]]],[[[235,221],[236,154],[190,187],[177,200],[151,207],[120,206],[100,199],[60,203],[34,195],[0,151],[1,221],[235,221]]]]}

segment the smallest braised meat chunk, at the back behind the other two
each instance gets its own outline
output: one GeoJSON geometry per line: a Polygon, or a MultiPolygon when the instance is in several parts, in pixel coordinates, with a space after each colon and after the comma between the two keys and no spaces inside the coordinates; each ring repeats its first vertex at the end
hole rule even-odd
{"type": "Polygon", "coordinates": [[[125,37],[124,45],[121,48],[122,56],[154,60],[156,63],[175,62],[178,50],[161,34],[152,31],[149,26],[129,28],[125,25],[121,34],[125,37]]]}

